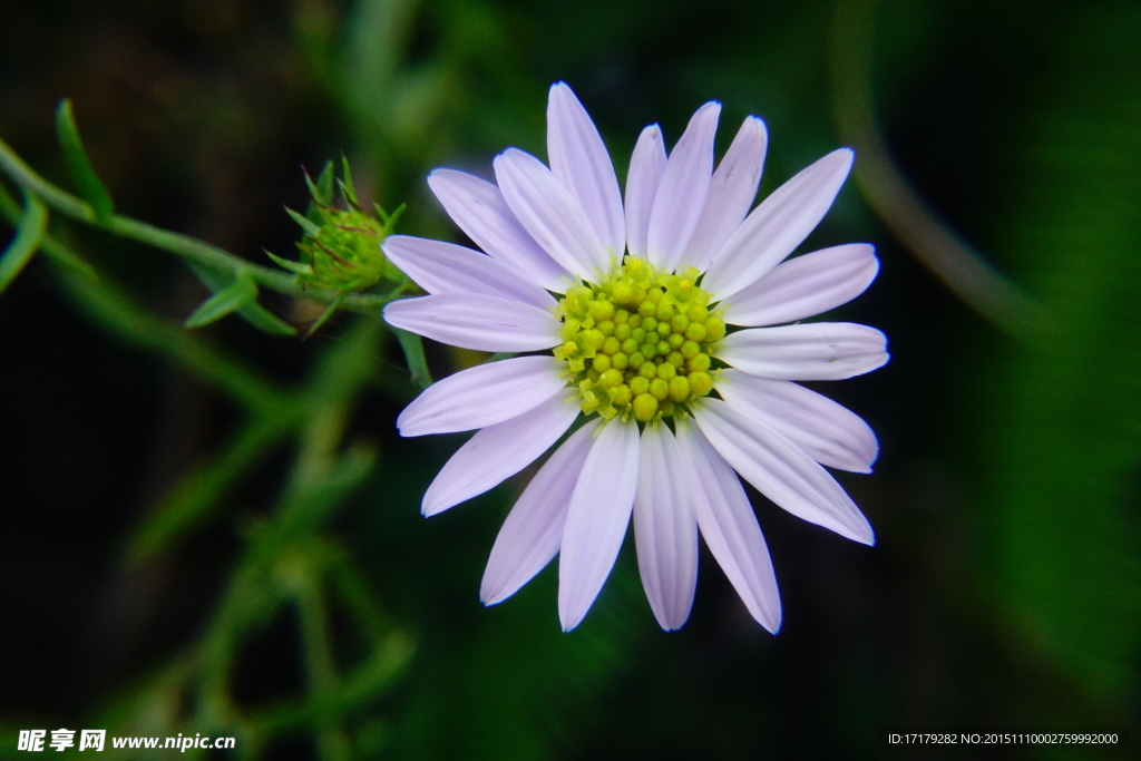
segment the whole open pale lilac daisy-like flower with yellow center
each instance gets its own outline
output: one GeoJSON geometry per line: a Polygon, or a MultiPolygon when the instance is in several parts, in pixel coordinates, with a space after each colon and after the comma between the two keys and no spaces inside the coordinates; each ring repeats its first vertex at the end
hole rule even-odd
{"type": "Polygon", "coordinates": [[[429,486],[426,516],[517,473],[584,420],[504,521],[480,588],[486,605],[559,554],[559,618],[574,629],[632,516],[642,585],[663,629],[689,616],[701,534],[748,612],[776,632],[772,564],[734,471],[804,520],[874,541],[822,465],[871,472],[875,435],[793,381],[850,378],[888,361],[877,330],[798,323],[861,293],[879,264],[867,244],[784,261],[832,205],[852,152],[826,155],[750,212],[764,123],[746,119],[714,171],[719,114],[717,103],[702,106],[669,156],[661,129],[647,127],[623,204],[598,130],[557,83],[550,168],[509,148],[494,161],[497,186],[451,169],[428,178],[485,253],[407,236],[385,243],[429,293],[390,303],[390,324],[525,353],[446,378],[400,414],[403,436],[479,429],[429,486]]]}

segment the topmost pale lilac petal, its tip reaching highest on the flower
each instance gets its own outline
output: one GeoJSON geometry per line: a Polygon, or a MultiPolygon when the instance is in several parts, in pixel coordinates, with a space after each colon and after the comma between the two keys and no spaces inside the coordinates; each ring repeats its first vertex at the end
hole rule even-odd
{"type": "Polygon", "coordinates": [[[578,200],[602,245],[621,259],[626,226],[618,178],[594,122],[565,82],[551,86],[547,103],[547,157],[551,172],[578,200]]]}

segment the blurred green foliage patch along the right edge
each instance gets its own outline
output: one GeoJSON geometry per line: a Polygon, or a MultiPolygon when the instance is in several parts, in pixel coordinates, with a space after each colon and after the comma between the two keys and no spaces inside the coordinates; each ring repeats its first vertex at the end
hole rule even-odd
{"type": "Polygon", "coordinates": [[[1043,21],[997,245],[1060,327],[985,365],[987,586],[1030,657],[1120,698],[1141,643],[1141,7],[1043,21]]]}

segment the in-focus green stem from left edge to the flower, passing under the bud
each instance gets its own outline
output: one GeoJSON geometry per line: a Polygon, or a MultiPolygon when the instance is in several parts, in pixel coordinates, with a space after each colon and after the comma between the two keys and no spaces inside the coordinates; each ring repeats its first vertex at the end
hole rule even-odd
{"type": "MultiPolygon", "coordinates": [[[[50,208],[81,222],[173,253],[204,267],[229,273],[234,277],[237,277],[237,274],[243,269],[249,270],[259,284],[288,296],[329,303],[339,294],[338,291],[331,290],[302,290],[293,276],[288,273],[256,265],[216,245],[129,217],[114,214],[110,220],[100,222],[96,218],[91,204],[40,177],[2,139],[0,139],[0,170],[3,170],[14,183],[27,193],[39,196],[50,208]]],[[[385,305],[402,292],[403,289],[397,288],[386,294],[353,293],[345,298],[342,308],[378,315],[385,305]]]]}

